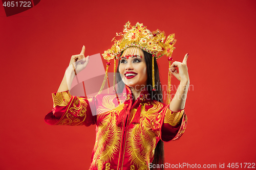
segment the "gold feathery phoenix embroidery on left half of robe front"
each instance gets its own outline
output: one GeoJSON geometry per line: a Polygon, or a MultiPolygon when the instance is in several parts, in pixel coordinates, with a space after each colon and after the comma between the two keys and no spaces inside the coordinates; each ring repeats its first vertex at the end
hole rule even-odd
{"type": "Polygon", "coordinates": [[[116,115],[122,110],[122,105],[115,108],[115,97],[104,96],[102,106],[97,109],[97,119],[100,122],[97,126],[92,165],[96,165],[98,169],[103,168],[104,162],[111,161],[120,148],[121,128],[116,126],[116,115]]]}

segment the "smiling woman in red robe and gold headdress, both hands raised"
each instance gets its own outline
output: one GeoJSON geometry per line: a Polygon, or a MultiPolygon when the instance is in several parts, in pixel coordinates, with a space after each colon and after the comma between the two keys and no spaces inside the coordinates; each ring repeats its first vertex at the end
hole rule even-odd
{"type": "MultiPolygon", "coordinates": [[[[159,98],[161,88],[155,88],[155,82],[158,87],[160,86],[158,66],[154,65],[156,57],[153,55],[156,53],[148,53],[151,51],[143,45],[143,40],[153,43],[152,35],[158,35],[150,35],[151,32],[147,31],[148,39],[145,39],[140,30],[146,29],[137,23],[131,30],[127,31],[126,27],[125,33],[133,33],[133,37],[138,33],[137,40],[142,40],[141,43],[130,43],[138,42],[131,39],[129,45],[124,44],[123,42],[127,42],[125,35],[122,40],[115,42],[115,48],[118,47],[117,53],[121,53],[117,68],[120,76],[117,76],[117,79],[121,79],[125,84],[121,94],[99,94],[91,99],[72,96],[68,92],[67,80],[72,80],[74,74],[67,72],[58,92],[53,93],[54,108],[45,117],[48,124],[96,124],[96,142],[90,169],[163,169],[162,141],[179,139],[184,133],[187,121],[184,113],[184,96],[189,86],[186,66],[188,54],[182,63],[175,61],[170,65],[169,71],[180,80],[180,86],[172,102],[165,105],[162,98],[159,98]],[[122,50],[119,49],[120,44],[125,45],[122,50]],[[147,52],[141,50],[141,45],[147,52]]],[[[116,51],[111,49],[113,53],[105,56],[116,57],[116,51]]],[[[84,51],[83,46],[80,55],[71,57],[70,65],[73,65],[76,73],[89,62],[88,57],[84,57],[84,51]],[[79,60],[86,62],[73,64],[79,60]]],[[[109,63],[109,58],[107,59],[109,63]]],[[[120,86],[118,88],[120,89],[120,86]]]]}

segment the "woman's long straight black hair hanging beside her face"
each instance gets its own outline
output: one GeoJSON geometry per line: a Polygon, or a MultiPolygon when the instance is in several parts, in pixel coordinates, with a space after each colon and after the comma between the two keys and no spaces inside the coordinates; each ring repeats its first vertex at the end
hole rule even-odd
{"type": "MultiPolygon", "coordinates": [[[[123,52],[122,52],[123,53],[123,52]]],[[[122,56],[122,53],[120,54],[120,56],[122,56]]],[[[155,87],[156,87],[156,91],[152,90],[152,84],[153,84],[153,80],[152,80],[152,54],[147,53],[145,51],[143,51],[144,57],[145,57],[145,62],[146,62],[146,68],[147,68],[147,91],[151,94],[151,99],[152,100],[156,100],[158,102],[162,102],[163,103],[163,98],[162,98],[162,87],[161,87],[161,82],[160,82],[160,76],[159,76],[159,69],[158,69],[158,64],[157,64],[157,60],[154,57],[154,70],[155,70],[155,87]]],[[[117,66],[117,82],[121,81],[121,76],[119,73],[119,65],[120,65],[120,60],[118,62],[118,66],[117,66]]],[[[118,86],[118,92],[122,91],[122,89],[124,88],[123,86],[118,86]]],[[[155,164],[164,164],[164,144],[162,140],[159,140],[157,143],[157,146],[155,148],[155,154],[154,154],[154,159],[152,161],[152,165],[155,164]]],[[[164,168],[151,168],[151,170],[163,170],[164,168]]]]}

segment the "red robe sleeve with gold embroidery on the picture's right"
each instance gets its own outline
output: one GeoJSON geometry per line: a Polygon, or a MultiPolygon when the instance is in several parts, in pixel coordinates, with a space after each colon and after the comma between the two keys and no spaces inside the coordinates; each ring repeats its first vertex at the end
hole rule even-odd
{"type": "Polygon", "coordinates": [[[169,105],[161,110],[151,122],[153,131],[162,141],[178,140],[185,132],[187,116],[183,110],[173,112],[169,105]]]}

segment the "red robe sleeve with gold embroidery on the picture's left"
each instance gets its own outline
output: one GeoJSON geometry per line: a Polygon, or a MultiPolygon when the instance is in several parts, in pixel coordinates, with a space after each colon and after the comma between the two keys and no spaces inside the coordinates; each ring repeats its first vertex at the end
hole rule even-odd
{"type": "Polygon", "coordinates": [[[72,96],[69,91],[52,93],[53,109],[45,116],[49,125],[90,126],[96,123],[96,99],[72,96]]]}

